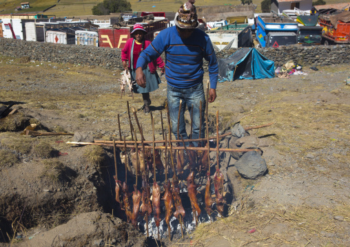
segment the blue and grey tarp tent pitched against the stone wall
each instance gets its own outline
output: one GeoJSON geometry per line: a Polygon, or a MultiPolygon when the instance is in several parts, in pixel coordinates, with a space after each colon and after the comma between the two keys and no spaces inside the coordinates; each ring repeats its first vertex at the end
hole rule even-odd
{"type": "Polygon", "coordinates": [[[218,59],[218,80],[274,78],[274,61],[255,48],[242,48],[228,58],[218,59]]]}

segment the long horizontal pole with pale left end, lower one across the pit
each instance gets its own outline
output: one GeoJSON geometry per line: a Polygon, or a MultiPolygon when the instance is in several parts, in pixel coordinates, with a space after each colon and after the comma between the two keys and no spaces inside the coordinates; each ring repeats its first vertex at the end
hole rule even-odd
{"type": "MultiPolygon", "coordinates": [[[[186,140],[184,140],[186,141],[186,140]]],[[[65,142],[65,144],[74,144],[74,145],[95,145],[95,146],[106,146],[106,147],[113,147],[113,144],[107,144],[107,143],[94,143],[94,142],[65,142]]],[[[124,147],[122,144],[116,144],[116,147],[124,147]]],[[[134,145],[126,145],[126,147],[135,147],[134,145]]],[[[172,147],[172,146],[171,146],[172,147]]],[[[145,146],[145,149],[153,149],[152,146],[145,146]]],[[[164,146],[158,146],[156,149],[165,149],[164,146]]],[[[174,150],[184,150],[185,148],[180,147],[172,147],[174,150]]],[[[186,147],[188,150],[195,150],[195,151],[216,151],[215,148],[207,148],[207,147],[186,147]]],[[[249,152],[249,151],[260,151],[259,149],[219,149],[220,152],[249,152]]]]}

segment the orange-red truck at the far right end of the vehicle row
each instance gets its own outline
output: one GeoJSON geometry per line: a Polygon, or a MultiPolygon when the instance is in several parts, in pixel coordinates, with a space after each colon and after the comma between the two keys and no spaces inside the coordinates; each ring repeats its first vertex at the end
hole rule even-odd
{"type": "Polygon", "coordinates": [[[350,12],[320,14],[322,43],[325,45],[350,44],[350,12]]]}

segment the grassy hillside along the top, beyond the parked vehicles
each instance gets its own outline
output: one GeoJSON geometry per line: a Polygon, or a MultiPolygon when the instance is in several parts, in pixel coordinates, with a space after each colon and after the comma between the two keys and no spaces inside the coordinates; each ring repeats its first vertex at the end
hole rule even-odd
{"type": "MultiPolygon", "coordinates": [[[[56,7],[48,10],[45,14],[55,14],[56,17],[73,17],[81,15],[91,15],[92,7],[103,0],[61,0],[57,3],[56,0],[32,0],[30,1],[29,10],[21,10],[19,12],[14,12],[14,8],[21,6],[23,0],[0,0],[0,14],[25,14],[28,12],[41,12],[54,4],[56,7]]],[[[152,0],[130,0],[132,4],[132,10],[134,11],[176,11],[186,0],[162,0],[162,1],[152,1],[152,0]],[[155,6],[153,8],[153,6],[155,6]]],[[[254,0],[253,3],[258,6],[256,12],[260,12],[260,2],[262,0],[254,0]]],[[[329,3],[342,3],[346,2],[344,0],[327,0],[329,3]]],[[[215,0],[198,0],[196,1],[196,6],[213,6],[213,5],[224,5],[231,4],[236,6],[240,4],[240,0],[225,0],[218,1],[215,0]]]]}

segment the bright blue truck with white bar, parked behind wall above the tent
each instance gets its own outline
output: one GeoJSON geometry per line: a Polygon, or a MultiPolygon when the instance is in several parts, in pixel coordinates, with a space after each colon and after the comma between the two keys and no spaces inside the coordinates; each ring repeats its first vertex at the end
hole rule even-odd
{"type": "Polygon", "coordinates": [[[280,47],[296,44],[298,23],[276,14],[256,19],[256,41],[260,47],[280,47]]]}

